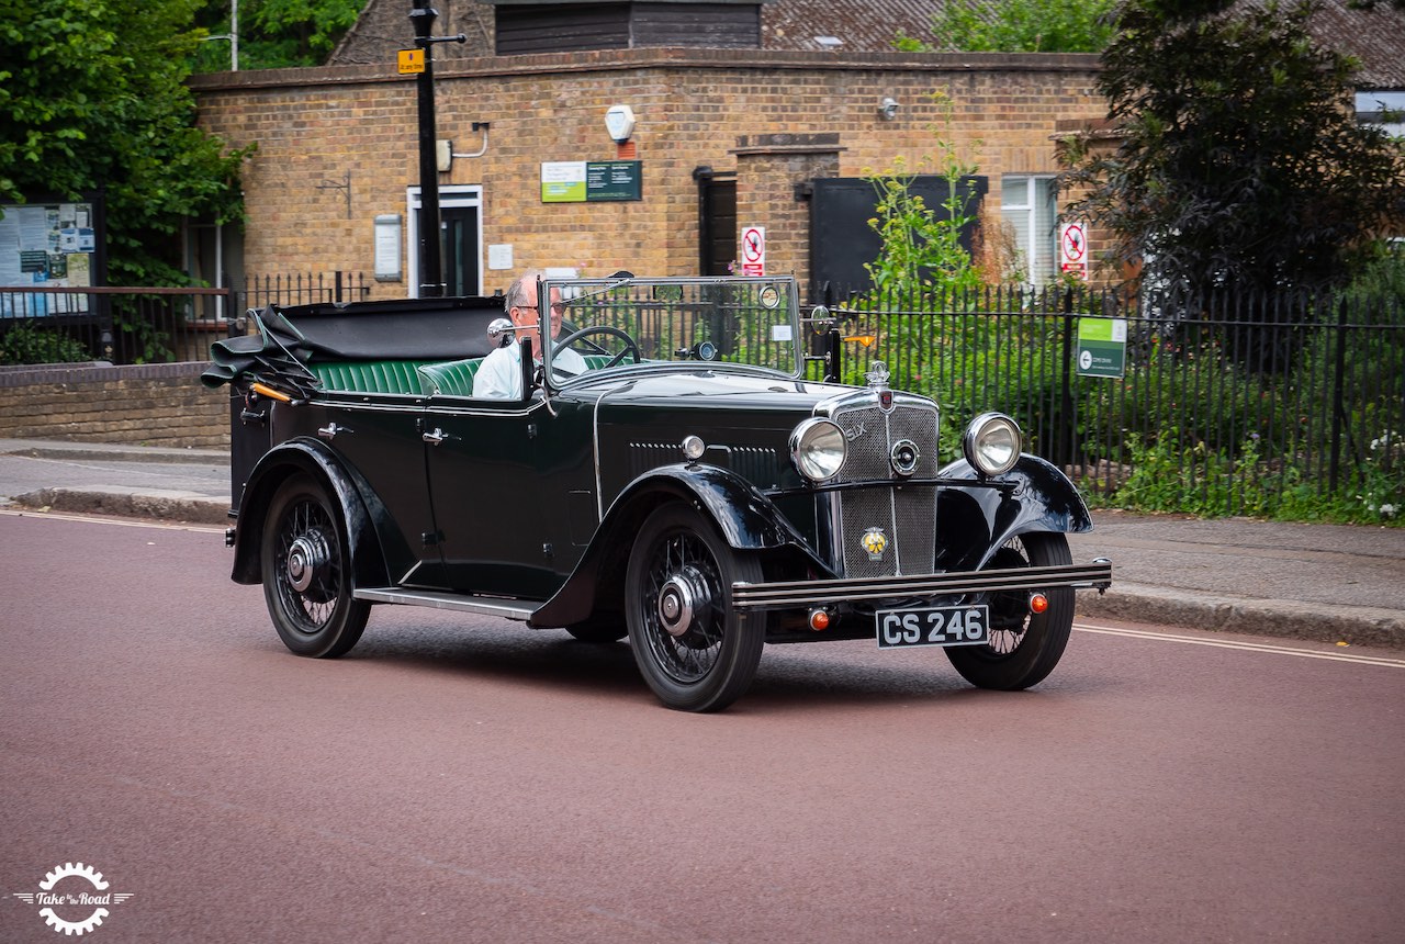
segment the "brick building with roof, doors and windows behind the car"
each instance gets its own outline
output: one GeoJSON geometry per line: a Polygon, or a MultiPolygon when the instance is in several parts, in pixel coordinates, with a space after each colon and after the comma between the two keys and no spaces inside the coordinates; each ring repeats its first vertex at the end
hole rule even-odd
{"type": "MultiPolygon", "coordinates": [[[[1338,20],[1402,21],[1343,4],[1329,4],[1338,20]]],[[[437,138],[454,155],[438,174],[450,292],[492,292],[528,267],[719,273],[742,261],[738,230],[753,226],[767,273],[846,282],[873,237],[864,214],[823,212],[830,190],[815,183],[863,187],[896,159],[922,170],[939,132],[978,164],[988,239],[1000,226],[1017,250],[1006,263],[1040,284],[1055,271],[1055,139],[1106,114],[1094,55],[888,51],[898,29],[926,35],[939,0],[434,6],[436,35],[468,38],[434,48],[437,138]],[[933,93],[948,96],[950,124],[933,93]],[[635,117],[622,145],[604,122],[615,105],[635,117]],[[608,176],[613,162],[625,162],[624,194],[544,198],[566,187],[561,174],[608,176]],[[840,256],[851,240],[847,260],[835,258],[835,239],[819,251],[815,219],[839,221],[823,232],[839,233],[840,256]]],[[[371,0],[336,65],[192,79],[205,128],[259,143],[247,228],[200,230],[198,275],[214,281],[218,239],[230,284],[379,270],[372,298],[417,292],[416,80],[396,66],[413,46],[410,8],[371,0]]]]}

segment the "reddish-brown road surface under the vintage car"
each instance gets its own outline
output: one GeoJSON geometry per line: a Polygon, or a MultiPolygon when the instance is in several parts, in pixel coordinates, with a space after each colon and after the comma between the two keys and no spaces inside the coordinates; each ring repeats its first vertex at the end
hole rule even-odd
{"type": "Polygon", "coordinates": [[[299,659],[229,563],[218,528],[0,513],[0,940],[70,940],[41,884],[96,944],[1405,927],[1398,653],[1080,624],[1006,694],[770,648],[698,716],[625,643],[430,610],[299,659]]]}

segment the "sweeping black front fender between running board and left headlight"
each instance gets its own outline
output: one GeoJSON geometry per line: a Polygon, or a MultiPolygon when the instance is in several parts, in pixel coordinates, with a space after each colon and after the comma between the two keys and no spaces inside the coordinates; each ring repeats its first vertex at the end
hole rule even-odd
{"type": "Polygon", "coordinates": [[[621,598],[634,535],[656,507],[677,500],[695,503],[736,551],[798,548],[813,556],[805,538],[770,499],[735,472],[715,465],[665,465],[625,486],[596,528],[580,563],[528,622],[570,625],[590,617],[599,600],[621,598]]]}

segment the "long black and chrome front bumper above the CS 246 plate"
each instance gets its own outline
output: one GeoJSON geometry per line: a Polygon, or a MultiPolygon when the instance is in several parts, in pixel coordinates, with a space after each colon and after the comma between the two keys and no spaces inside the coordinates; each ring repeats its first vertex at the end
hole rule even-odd
{"type": "Polygon", "coordinates": [[[1097,587],[1113,583],[1113,565],[1054,565],[929,573],[912,577],[867,577],[837,580],[794,580],[777,583],[733,583],[732,605],[738,610],[813,607],[858,600],[961,596],[1002,590],[1050,590],[1054,587],[1097,587]]]}

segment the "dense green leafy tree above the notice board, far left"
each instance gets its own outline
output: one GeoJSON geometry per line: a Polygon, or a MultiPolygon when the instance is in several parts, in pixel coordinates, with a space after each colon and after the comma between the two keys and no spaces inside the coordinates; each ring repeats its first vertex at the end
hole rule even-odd
{"type": "Polygon", "coordinates": [[[246,152],[195,126],[200,0],[0,0],[0,201],[103,191],[108,280],[177,285],[188,218],[242,219],[246,152]]]}

